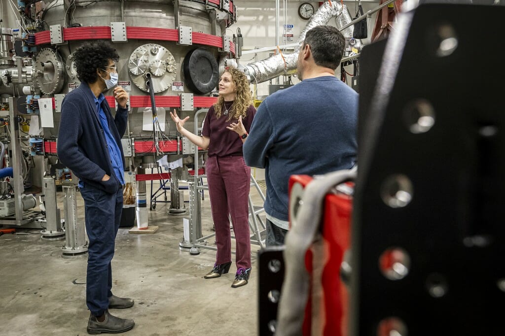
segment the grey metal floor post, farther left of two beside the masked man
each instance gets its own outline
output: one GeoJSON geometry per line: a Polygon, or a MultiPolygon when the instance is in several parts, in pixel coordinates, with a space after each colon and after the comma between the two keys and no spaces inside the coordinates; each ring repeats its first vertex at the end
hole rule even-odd
{"type": "Polygon", "coordinates": [[[40,239],[45,241],[62,240],[65,238],[65,231],[62,228],[62,220],[60,217],[60,209],[56,206],[56,184],[55,180],[50,177],[44,177],[44,207],[45,229],[40,231],[40,239]]]}

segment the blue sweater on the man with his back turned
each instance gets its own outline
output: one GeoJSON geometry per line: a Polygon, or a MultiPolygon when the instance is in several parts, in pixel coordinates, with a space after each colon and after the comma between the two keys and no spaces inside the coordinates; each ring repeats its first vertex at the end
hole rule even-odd
{"type": "Polygon", "coordinates": [[[356,163],[358,93],[332,76],[306,79],[259,106],[244,143],[245,163],[266,169],[265,211],[288,220],[291,175],[319,175],[356,163]]]}

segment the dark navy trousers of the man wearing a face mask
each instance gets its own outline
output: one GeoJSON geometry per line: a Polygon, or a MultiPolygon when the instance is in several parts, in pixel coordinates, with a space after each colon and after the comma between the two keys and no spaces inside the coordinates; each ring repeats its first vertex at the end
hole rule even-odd
{"type": "Polygon", "coordinates": [[[114,241],[123,210],[123,190],[114,194],[84,185],[84,219],[89,239],[86,273],[86,304],[94,316],[103,315],[112,296],[114,241]]]}

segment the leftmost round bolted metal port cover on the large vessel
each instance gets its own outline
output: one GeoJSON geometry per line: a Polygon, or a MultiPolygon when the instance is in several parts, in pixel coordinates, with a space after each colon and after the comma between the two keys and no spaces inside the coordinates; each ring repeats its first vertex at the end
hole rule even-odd
{"type": "Polygon", "coordinates": [[[43,48],[33,62],[35,80],[44,94],[60,92],[65,82],[63,61],[53,49],[43,48]]]}

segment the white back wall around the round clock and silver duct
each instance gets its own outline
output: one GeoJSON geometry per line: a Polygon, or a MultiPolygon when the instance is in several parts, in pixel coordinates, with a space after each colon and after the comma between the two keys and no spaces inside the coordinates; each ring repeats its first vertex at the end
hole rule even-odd
{"type": "MultiPolygon", "coordinates": [[[[309,1],[317,11],[319,8],[318,3],[319,2],[314,2],[314,1],[309,1]]],[[[282,4],[283,1],[280,0],[280,14],[279,14],[279,21],[280,21],[280,28],[279,28],[279,34],[280,34],[280,44],[283,44],[284,41],[282,40],[282,35],[283,35],[283,26],[284,24],[292,24],[293,29],[292,29],[292,34],[294,35],[294,40],[293,42],[297,42],[299,33],[301,30],[306,26],[308,23],[307,20],[303,20],[298,16],[298,6],[302,3],[301,1],[293,1],[293,0],[288,0],[287,1],[287,6],[286,6],[286,17],[287,20],[284,20],[284,13],[283,13],[283,8],[282,4]]],[[[244,48],[243,50],[246,49],[254,49],[254,48],[261,48],[261,47],[268,47],[268,46],[275,46],[276,44],[276,39],[275,39],[275,1],[274,0],[263,0],[263,1],[254,1],[254,0],[235,0],[234,2],[235,6],[237,7],[237,22],[229,28],[227,31],[228,35],[231,34],[236,34],[237,28],[240,28],[242,36],[244,38],[244,48]]],[[[356,12],[355,12],[355,5],[356,2],[354,1],[344,1],[344,5],[347,6],[349,9],[350,15],[352,18],[354,18],[356,12]]],[[[379,1],[362,1],[362,6],[363,10],[366,12],[368,10],[371,10],[377,6],[379,6],[379,1]]],[[[369,34],[368,36],[371,36],[371,32],[373,29],[373,25],[375,23],[375,14],[372,15],[372,18],[368,19],[368,29],[369,29],[369,34]]],[[[336,26],[335,20],[332,19],[328,23],[329,25],[336,26]]],[[[293,43],[293,42],[286,42],[286,43],[293,43]]],[[[362,41],[364,44],[370,43],[369,38],[365,39],[362,41]]],[[[273,52],[273,51],[270,51],[273,52]]],[[[288,51],[291,52],[291,51],[288,51]]],[[[254,57],[255,54],[247,54],[243,55],[243,57],[240,60],[240,64],[246,65],[251,62],[255,62],[256,60],[260,61],[263,59],[266,59],[269,57],[269,52],[259,52],[256,54],[256,58],[254,57]]],[[[352,67],[347,67],[347,72],[352,73],[352,67]]],[[[340,69],[337,69],[336,71],[336,76],[340,78],[340,69]]],[[[283,78],[280,78],[280,82],[282,84],[283,78]]],[[[298,80],[294,77],[292,77],[292,82],[297,83],[298,80]]],[[[275,84],[275,80],[273,80],[273,83],[275,84]]],[[[350,77],[348,77],[348,83],[350,85],[350,77]]],[[[257,89],[257,95],[258,96],[266,96],[268,95],[268,85],[269,82],[265,83],[260,83],[257,89]]]]}

